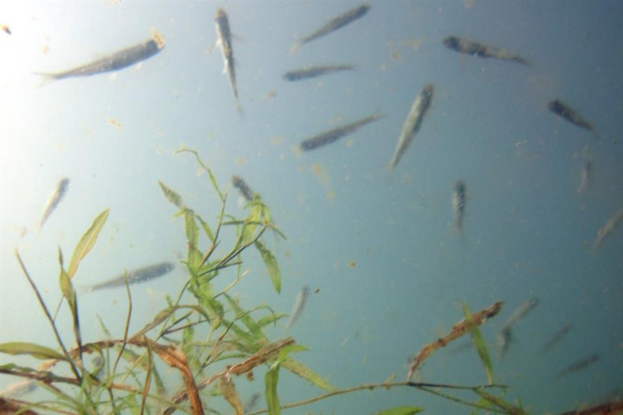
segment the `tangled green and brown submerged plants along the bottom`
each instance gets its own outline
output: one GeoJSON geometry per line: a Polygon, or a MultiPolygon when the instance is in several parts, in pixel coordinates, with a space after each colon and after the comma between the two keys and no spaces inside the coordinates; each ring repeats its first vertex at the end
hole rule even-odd
{"type": "MultiPolygon", "coordinates": [[[[57,347],[27,342],[0,344],[1,353],[28,355],[42,360],[42,364],[36,369],[14,363],[0,365],[0,374],[26,380],[18,382],[15,388],[9,388],[0,396],[0,414],[219,414],[213,408],[212,400],[223,399],[237,415],[272,415],[280,414],[281,409],[309,405],[340,394],[392,387],[410,387],[433,394],[471,408],[473,414],[527,414],[521,403],[505,400],[509,387],[494,384],[489,352],[478,329],[480,324],[485,324],[498,314],[503,306],[502,302],[496,302],[476,313],[471,313],[464,305],[464,319],[455,324],[443,338],[422,347],[411,362],[405,382],[388,380],[378,384],[338,389],[313,369],[293,358],[293,353],[308,349],[298,344],[294,338],[271,339],[264,333],[269,326],[275,325],[287,315],[273,311],[267,304],[245,309],[230,294],[232,288],[246,275],[242,264],[246,251],[250,248],[258,250],[266,265],[271,286],[277,293],[280,292],[281,273],[278,261],[262,242],[262,236],[267,230],[284,239],[285,235],[272,222],[269,207],[258,194],[253,194],[253,199],[249,201],[249,214],[245,219],[237,219],[227,214],[227,194],[220,190],[215,176],[201,161],[197,152],[186,148],[177,152],[195,156],[199,166],[208,172],[211,186],[222,203],[216,223],[208,223],[184,203],[180,194],[159,182],[165,198],[176,206],[178,211],[174,216],[183,220],[186,234],[187,255],[180,262],[186,267],[188,277],[177,296],[167,297],[168,306],[156,313],[143,329],[129,333],[132,296],[129,291],[131,275],[127,274],[125,286],[128,306],[123,338],[112,338],[105,324],[99,320],[102,340],[83,342],[81,324],[84,321],[81,321],[78,312],[78,296],[72,279],[78,272],[80,261],[96,245],[109,214],[109,210],[105,210],[94,219],[78,242],[69,266],[65,266],[62,251],[58,251],[60,289],[62,299],[71,311],[73,328],[73,336],[70,336],[73,338],[64,338],[16,249],[17,261],[55,334],[57,347]],[[235,241],[228,249],[221,244],[226,233],[235,235],[235,241]],[[219,292],[215,291],[213,284],[217,277],[224,284],[229,283],[219,292]],[[467,333],[471,334],[473,345],[482,361],[486,384],[463,386],[410,381],[413,371],[431,353],[467,333]],[[72,347],[69,347],[70,343],[73,344],[72,347]],[[87,355],[93,357],[87,358],[87,355]],[[163,366],[179,372],[181,382],[177,391],[166,389],[159,373],[159,367],[163,366]],[[242,375],[253,380],[253,370],[259,366],[267,368],[264,376],[266,409],[251,412],[252,409],[247,405],[243,406],[235,380],[242,375]],[[283,404],[283,396],[278,396],[277,393],[282,369],[310,382],[322,393],[306,400],[283,404]],[[47,398],[28,401],[12,397],[10,392],[17,390],[18,386],[22,390],[42,387],[48,393],[47,398]],[[471,391],[473,400],[459,398],[453,395],[455,391],[471,391]]],[[[258,396],[254,395],[253,400],[257,402],[258,396]]],[[[414,401],[416,400],[417,396],[414,396],[414,401]]],[[[622,403],[615,402],[585,409],[581,413],[614,414],[622,407],[622,403]]],[[[418,406],[403,406],[392,407],[379,414],[407,415],[422,411],[424,409],[418,406]]]]}

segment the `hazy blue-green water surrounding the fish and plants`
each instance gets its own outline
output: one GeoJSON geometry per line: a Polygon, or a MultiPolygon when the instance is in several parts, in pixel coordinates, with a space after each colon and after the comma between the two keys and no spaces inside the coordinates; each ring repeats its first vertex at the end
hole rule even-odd
{"type": "MultiPolygon", "coordinates": [[[[173,155],[186,145],[231,190],[234,214],[244,211],[230,185],[233,174],[271,206],[288,237],[266,238],[282,268],[282,293],[273,291],[254,253],[234,293],[244,306],[267,303],[289,312],[296,293],[309,286],[291,334],[311,349],[297,357],[332,384],[383,382],[391,374],[404,379],[409,356],[462,318],[460,302],[472,311],[505,302],[482,327],[493,353],[500,325],[538,297],[539,306],[514,326],[509,351],[494,357],[496,382],[513,387],[509,398],[520,397],[531,413],[562,412],[620,390],[623,225],[599,250],[590,247],[623,206],[623,3],[370,4],[365,17],[291,55],[296,37],[359,3],[2,3],[0,24],[12,35],[0,32],[0,341],[55,345],[13,256],[16,246],[51,308],[60,298],[57,247],[69,257],[105,208],[107,225],[80,264],[76,286],[185,252],[181,220],[171,220],[174,208],[157,181],[204,218],[214,221],[220,208],[195,161],[173,155]],[[215,49],[217,8],[226,10],[236,35],[244,117],[215,49]],[[43,88],[31,74],[84,64],[142,42],[151,29],[165,37],[165,48],[138,66],[43,88]],[[448,35],[507,48],[532,65],[460,55],[443,46],[448,35]],[[301,82],[281,78],[312,64],[354,64],[356,71],[301,82]],[[428,83],[435,88],[431,109],[390,172],[385,166],[401,125],[428,83]],[[601,139],[550,113],[547,103],[555,98],[593,122],[601,139]],[[301,140],[374,111],[386,118],[332,145],[297,150],[301,140]],[[586,158],[593,176],[578,194],[586,158]],[[69,190],[37,235],[33,229],[62,177],[70,178],[69,190]],[[451,212],[458,179],[468,195],[462,237],[451,212]],[[543,344],[567,323],[570,333],[543,355],[543,344]],[[600,356],[594,365],[555,378],[592,353],[600,356]]],[[[177,293],[184,277],[180,266],[134,286],[131,328],[163,308],[164,295],[177,293]]],[[[223,278],[219,287],[231,282],[223,278]]],[[[96,313],[123,335],[123,289],[79,300],[84,338],[102,335],[96,313]]],[[[66,308],[60,315],[69,321],[66,308]]],[[[285,336],[281,327],[269,333],[285,336]]],[[[174,371],[165,376],[171,385],[179,382],[174,371]]],[[[438,351],[418,376],[486,382],[473,350],[438,351]]],[[[0,376],[0,389],[15,381],[0,376]]],[[[262,392],[263,371],[237,386],[243,400],[262,392]]],[[[282,403],[320,393],[285,371],[278,391],[282,403]]],[[[405,388],[360,391],[286,413],[370,414],[394,405],[469,413],[405,388]]]]}

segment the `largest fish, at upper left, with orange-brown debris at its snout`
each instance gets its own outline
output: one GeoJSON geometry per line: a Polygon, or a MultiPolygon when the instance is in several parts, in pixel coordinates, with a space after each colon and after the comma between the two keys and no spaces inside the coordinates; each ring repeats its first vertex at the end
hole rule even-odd
{"type": "Polygon", "coordinates": [[[144,61],[145,59],[149,59],[159,53],[163,48],[163,37],[156,33],[153,38],[147,39],[145,42],[119,50],[112,55],[102,57],[89,64],[56,73],[35,72],[35,75],[42,75],[46,77],[48,81],[55,81],[70,77],[91,76],[98,75],[99,73],[119,71],[128,66],[138,64],[138,62],[144,61]]]}

